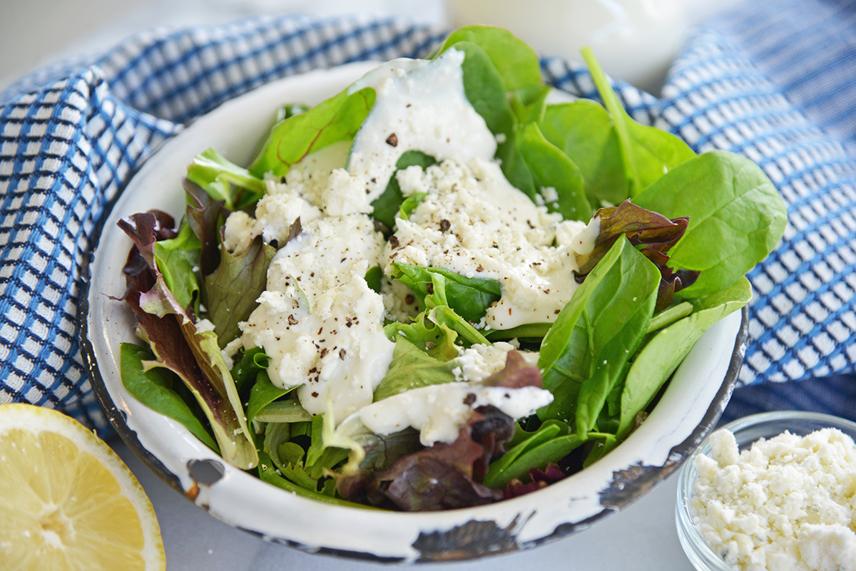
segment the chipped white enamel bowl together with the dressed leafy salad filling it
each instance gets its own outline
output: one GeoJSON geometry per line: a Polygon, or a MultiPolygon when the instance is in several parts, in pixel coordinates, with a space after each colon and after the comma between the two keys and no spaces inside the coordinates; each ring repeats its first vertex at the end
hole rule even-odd
{"type": "Polygon", "coordinates": [[[746,157],[633,121],[586,57],[603,104],[472,26],[169,140],[81,309],[130,447],[235,527],[394,561],[576,533],[674,472],[786,213],[746,157]]]}

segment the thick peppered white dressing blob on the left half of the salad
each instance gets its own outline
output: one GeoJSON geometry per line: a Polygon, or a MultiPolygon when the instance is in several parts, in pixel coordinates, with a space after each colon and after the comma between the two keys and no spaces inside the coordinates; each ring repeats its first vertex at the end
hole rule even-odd
{"type": "Polygon", "coordinates": [[[243,344],[271,357],[277,386],[297,386],[317,415],[333,404],[343,418],[366,403],[392,360],[383,301],[366,284],[383,238],[366,215],[329,216],[307,225],[276,253],[268,291],[243,328],[243,344]]]}

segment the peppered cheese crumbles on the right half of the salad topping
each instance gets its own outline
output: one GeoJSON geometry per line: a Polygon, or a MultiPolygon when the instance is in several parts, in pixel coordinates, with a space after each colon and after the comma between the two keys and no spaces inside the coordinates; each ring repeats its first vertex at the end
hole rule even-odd
{"type": "Polygon", "coordinates": [[[493,329],[556,320],[576,289],[575,251],[593,245],[584,222],[562,221],[532,203],[492,161],[410,167],[398,182],[405,196],[427,196],[407,220],[395,221],[387,273],[392,262],[405,262],[499,280],[502,297],[484,318],[493,329]],[[579,233],[585,244],[574,242],[579,233]]]}

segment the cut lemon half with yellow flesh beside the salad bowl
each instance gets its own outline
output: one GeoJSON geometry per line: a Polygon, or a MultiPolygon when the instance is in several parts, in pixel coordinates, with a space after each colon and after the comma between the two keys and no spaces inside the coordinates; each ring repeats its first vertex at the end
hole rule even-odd
{"type": "Polygon", "coordinates": [[[0,404],[0,569],[166,568],[152,503],[70,417],[0,404]]]}

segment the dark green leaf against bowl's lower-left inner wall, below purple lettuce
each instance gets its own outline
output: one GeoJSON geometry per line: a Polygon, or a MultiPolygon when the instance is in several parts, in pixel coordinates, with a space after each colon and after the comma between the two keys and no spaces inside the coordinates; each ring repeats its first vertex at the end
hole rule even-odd
{"type": "Polygon", "coordinates": [[[152,361],[153,358],[152,351],[147,347],[123,343],[119,348],[122,385],[140,403],[179,422],[193,436],[219,454],[220,449],[211,438],[211,433],[193,414],[184,398],[173,389],[174,374],[163,368],[146,370],[143,366],[143,362],[152,361]]]}

